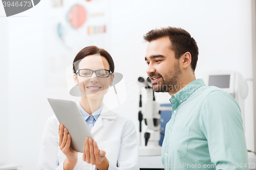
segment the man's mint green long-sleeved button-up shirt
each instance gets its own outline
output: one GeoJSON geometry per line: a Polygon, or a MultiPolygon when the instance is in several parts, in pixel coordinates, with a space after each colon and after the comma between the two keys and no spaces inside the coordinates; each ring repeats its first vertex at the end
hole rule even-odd
{"type": "Polygon", "coordinates": [[[162,144],[165,169],[249,169],[241,110],[231,95],[197,79],[170,102],[173,114],[162,144]]]}

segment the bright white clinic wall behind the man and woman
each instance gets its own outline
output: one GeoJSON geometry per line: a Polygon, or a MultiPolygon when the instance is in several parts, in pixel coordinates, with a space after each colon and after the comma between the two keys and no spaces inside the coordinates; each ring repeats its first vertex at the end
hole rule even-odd
{"type": "MultiPolygon", "coordinates": [[[[247,149],[255,151],[252,32],[256,30],[252,30],[251,1],[63,0],[61,7],[52,3],[44,0],[13,17],[0,17],[0,164],[36,169],[44,125],[54,114],[47,98],[76,100],[69,94],[66,69],[87,45],[112,55],[115,72],[123,75],[116,88],[124,96],[114,111],[131,118],[138,131],[137,79],[146,77],[147,67],[143,35],[167,26],[181,27],[197,41],[196,78],[203,78],[205,71],[234,70],[246,79],[245,135],[247,149]],[[78,29],[67,22],[67,13],[76,4],[88,12],[78,29]],[[106,31],[87,35],[89,26],[105,26],[106,31]]],[[[5,16],[2,4],[0,15],[5,16]]],[[[168,94],[157,93],[156,99],[169,103],[168,94]]]]}

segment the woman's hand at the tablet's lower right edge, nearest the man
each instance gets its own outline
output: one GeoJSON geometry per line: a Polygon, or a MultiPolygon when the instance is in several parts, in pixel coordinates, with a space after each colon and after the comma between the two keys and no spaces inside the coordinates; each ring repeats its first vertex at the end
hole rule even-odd
{"type": "Polygon", "coordinates": [[[83,145],[82,160],[95,165],[98,169],[108,169],[109,161],[105,157],[106,152],[99,150],[96,141],[92,138],[86,138],[83,145]]]}

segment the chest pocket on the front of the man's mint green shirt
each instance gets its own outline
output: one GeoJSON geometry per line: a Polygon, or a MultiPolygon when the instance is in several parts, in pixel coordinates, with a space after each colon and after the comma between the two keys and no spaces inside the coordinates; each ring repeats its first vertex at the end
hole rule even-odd
{"type": "Polygon", "coordinates": [[[175,126],[170,132],[169,146],[170,157],[175,160],[187,155],[188,126],[175,126]]]}

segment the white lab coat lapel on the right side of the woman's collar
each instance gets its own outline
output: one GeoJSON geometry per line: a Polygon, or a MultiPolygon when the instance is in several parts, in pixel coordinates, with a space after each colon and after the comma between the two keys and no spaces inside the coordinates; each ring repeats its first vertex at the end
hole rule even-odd
{"type": "Polygon", "coordinates": [[[116,119],[114,112],[111,111],[108,107],[106,107],[105,104],[103,104],[100,116],[98,117],[96,123],[93,126],[93,129],[91,131],[92,134],[97,132],[103,126],[102,119],[116,119]]]}

